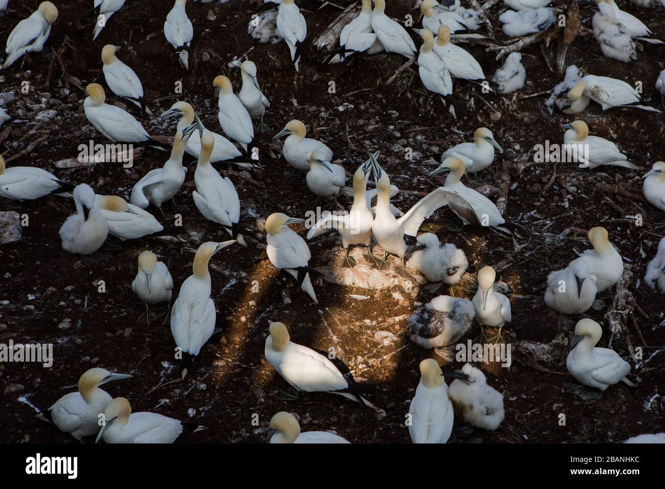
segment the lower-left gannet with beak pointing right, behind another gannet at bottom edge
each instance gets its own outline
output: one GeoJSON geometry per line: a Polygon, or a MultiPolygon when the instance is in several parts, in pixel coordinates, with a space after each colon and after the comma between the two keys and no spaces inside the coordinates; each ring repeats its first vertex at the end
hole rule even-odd
{"type": "Polygon", "coordinates": [[[99,432],[99,414],[104,412],[112,397],[99,388],[100,385],[132,376],[110,373],[104,369],[90,369],[78,379],[78,392],[69,393],[58,399],[40,417],[53,422],[64,433],[76,440],[99,432]]]}

